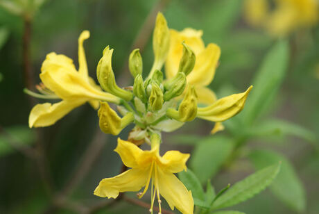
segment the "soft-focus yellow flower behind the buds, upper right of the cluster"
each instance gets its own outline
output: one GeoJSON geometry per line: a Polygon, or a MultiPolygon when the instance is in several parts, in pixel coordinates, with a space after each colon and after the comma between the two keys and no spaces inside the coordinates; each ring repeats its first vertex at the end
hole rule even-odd
{"type": "Polygon", "coordinates": [[[171,45],[165,63],[166,78],[171,79],[177,74],[182,58],[182,42],[184,42],[196,55],[195,66],[191,73],[187,75],[187,83],[195,86],[200,104],[212,104],[216,101],[216,95],[205,86],[209,85],[214,79],[221,49],[213,43],[209,43],[205,47],[201,38],[202,31],[196,31],[192,28],[185,28],[181,32],[171,29],[170,35],[171,45]]]}

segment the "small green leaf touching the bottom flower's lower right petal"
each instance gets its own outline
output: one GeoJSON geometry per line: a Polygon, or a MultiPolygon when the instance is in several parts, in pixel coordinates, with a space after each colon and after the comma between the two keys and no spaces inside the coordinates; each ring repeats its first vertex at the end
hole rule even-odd
{"type": "Polygon", "coordinates": [[[205,193],[202,189],[202,185],[198,180],[198,177],[191,172],[191,170],[187,170],[187,172],[182,171],[178,173],[178,177],[184,186],[186,186],[187,190],[191,190],[191,194],[193,195],[194,204],[197,206],[202,206],[204,208],[209,208],[205,202],[205,193]]]}

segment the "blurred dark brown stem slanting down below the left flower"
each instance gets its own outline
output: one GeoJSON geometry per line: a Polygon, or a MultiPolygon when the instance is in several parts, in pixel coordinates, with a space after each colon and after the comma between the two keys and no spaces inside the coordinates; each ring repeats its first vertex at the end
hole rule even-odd
{"type": "Polygon", "coordinates": [[[71,176],[71,179],[64,186],[60,195],[67,196],[71,194],[71,192],[78,186],[78,184],[85,178],[85,175],[91,169],[94,161],[105,146],[105,142],[107,139],[107,135],[103,133],[100,128],[96,129],[96,134],[92,142],[89,144],[87,149],[85,150],[85,154],[81,158],[80,163],[76,167],[76,171],[71,176]]]}

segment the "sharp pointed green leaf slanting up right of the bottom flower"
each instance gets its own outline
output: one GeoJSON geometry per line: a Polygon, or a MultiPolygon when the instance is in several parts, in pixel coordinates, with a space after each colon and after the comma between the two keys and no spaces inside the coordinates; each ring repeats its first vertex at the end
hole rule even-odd
{"type": "Polygon", "coordinates": [[[277,163],[263,170],[259,170],[242,181],[235,183],[227,192],[216,199],[212,209],[234,206],[250,199],[270,185],[277,176],[279,169],[280,164],[277,163]]]}

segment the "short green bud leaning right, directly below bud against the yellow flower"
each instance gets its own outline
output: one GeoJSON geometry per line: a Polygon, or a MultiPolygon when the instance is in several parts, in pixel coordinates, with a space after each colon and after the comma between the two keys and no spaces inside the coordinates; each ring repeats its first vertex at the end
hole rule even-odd
{"type": "Polygon", "coordinates": [[[186,87],[186,75],[178,72],[173,79],[170,79],[164,84],[166,92],[164,93],[164,101],[169,101],[173,97],[178,97],[186,87]]]}

